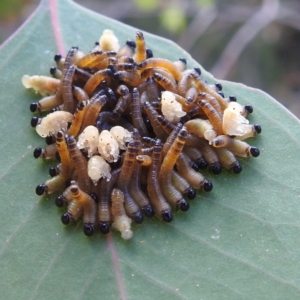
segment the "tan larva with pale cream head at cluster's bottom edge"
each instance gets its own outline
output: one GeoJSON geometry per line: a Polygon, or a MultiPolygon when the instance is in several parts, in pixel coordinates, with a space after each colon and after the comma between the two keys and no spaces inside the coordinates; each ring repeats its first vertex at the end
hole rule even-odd
{"type": "Polygon", "coordinates": [[[111,212],[113,217],[113,228],[121,232],[124,240],[129,240],[133,236],[131,230],[131,219],[127,217],[124,208],[124,194],[119,189],[113,189],[111,193],[111,212]]]}

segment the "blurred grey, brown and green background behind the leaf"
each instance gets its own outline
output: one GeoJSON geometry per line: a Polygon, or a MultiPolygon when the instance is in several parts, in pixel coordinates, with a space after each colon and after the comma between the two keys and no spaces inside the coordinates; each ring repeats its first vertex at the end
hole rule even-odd
{"type": "MultiPolygon", "coordinates": [[[[215,77],[263,89],[300,118],[299,0],[75,2],[172,39],[215,77]]],[[[38,3],[0,1],[0,43],[38,3]]]]}

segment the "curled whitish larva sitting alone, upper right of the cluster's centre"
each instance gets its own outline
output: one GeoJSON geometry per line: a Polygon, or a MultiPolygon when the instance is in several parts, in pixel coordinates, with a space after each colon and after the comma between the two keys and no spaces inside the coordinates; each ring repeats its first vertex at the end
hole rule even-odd
{"type": "Polygon", "coordinates": [[[186,115],[182,105],[176,101],[175,95],[169,91],[161,93],[161,111],[171,123],[178,123],[180,118],[186,115]]]}

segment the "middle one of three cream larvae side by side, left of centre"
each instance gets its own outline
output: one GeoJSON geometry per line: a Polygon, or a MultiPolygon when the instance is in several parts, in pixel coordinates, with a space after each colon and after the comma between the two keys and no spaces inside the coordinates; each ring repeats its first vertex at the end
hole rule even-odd
{"type": "Polygon", "coordinates": [[[102,130],[99,135],[98,152],[108,162],[116,162],[119,158],[119,145],[108,130],[102,130]]]}

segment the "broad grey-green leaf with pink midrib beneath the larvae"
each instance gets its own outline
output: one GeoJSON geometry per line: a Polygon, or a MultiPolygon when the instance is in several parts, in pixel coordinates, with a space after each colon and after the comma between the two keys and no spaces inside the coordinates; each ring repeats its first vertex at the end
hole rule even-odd
{"type": "MultiPolygon", "coordinates": [[[[89,51],[105,28],[121,43],[136,31],[70,1],[57,1],[57,8],[44,1],[1,47],[1,298],[299,299],[299,120],[262,91],[222,82],[226,95],[253,105],[250,121],[263,131],[250,143],[261,155],[244,159],[240,175],[206,174],[213,191],[201,193],[187,213],[175,213],[171,224],[147,219],[133,226],[130,241],[116,232],[87,238],[80,223],[61,224],[55,197],[36,196],[51,162],[32,156],[44,145],[28,109],[39,96],[24,89],[21,77],[47,75],[54,64],[50,6],[66,50],[89,51]]],[[[145,38],[156,57],[197,65],[174,43],[145,38]]]]}

